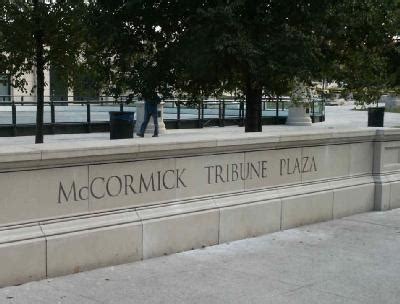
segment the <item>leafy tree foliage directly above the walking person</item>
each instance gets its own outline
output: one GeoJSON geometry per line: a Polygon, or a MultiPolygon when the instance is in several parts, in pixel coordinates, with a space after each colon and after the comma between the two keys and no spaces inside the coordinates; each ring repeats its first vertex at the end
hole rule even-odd
{"type": "Polygon", "coordinates": [[[127,91],[172,94],[169,45],[179,20],[165,15],[178,6],[177,2],[89,1],[90,37],[83,57],[103,92],[115,97],[127,91]]]}

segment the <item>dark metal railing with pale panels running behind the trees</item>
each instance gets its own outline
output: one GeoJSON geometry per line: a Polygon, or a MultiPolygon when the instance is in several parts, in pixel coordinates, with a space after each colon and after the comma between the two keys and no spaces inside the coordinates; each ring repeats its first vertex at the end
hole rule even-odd
{"type": "MultiPolygon", "coordinates": [[[[108,124],[108,112],[124,109],[134,110],[135,101],[127,104],[128,96],[115,99],[110,96],[72,97],[52,100],[45,97],[45,124],[50,132],[60,124],[81,124],[85,132],[91,132],[94,124],[108,124]]],[[[186,100],[165,100],[164,121],[169,128],[204,126],[225,126],[227,124],[244,125],[246,106],[243,100],[235,98],[207,99],[198,103],[188,103],[186,100]],[[188,122],[191,122],[188,124],[188,122]]],[[[269,124],[283,123],[287,116],[288,97],[263,98],[262,116],[269,124]]],[[[0,127],[13,128],[14,136],[20,125],[34,125],[35,97],[0,95],[0,127]],[[29,108],[31,107],[31,108],[29,108]],[[10,112],[10,113],[8,113],[10,112]]],[[[325,116],[325,105],[322,99],[316,99],[309,108],[313,122],[322,121],[325,116]]]]}

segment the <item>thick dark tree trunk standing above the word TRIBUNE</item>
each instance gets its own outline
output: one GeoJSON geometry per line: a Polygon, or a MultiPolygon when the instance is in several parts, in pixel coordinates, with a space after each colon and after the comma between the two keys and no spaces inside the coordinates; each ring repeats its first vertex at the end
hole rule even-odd
{"type": "Polygon", "coordinates": [[[245,132],[262,132],[262,88],[250,81],[246,85],[245,132]]]}

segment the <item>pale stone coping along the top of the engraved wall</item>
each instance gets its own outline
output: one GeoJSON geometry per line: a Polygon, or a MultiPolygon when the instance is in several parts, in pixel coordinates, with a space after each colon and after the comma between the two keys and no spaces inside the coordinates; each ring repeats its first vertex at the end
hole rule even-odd
{"type": "Polygon", "coordinates": [[[221,133],[125,140],[93,140],[0,146],[0,170],[88,164],[101,161],[235,152],[243,149],[280,149],[297,146],[341,144],[357,141],[400,139],[398,129],[317,129],[304,132],[221,133]],[[228,135],[228,138],[227,138],[228,135]]]}

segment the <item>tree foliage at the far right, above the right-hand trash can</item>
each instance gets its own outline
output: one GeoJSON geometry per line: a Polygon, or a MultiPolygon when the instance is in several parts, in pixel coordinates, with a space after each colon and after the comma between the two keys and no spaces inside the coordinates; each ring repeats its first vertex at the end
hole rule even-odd
{"type": "Polygon", "coordinates": [[[382,93],[399,85],[400,2],[343,1],[332,15],[337,29],[330,43],[336,59],[332,77],[361,104],[378,104],[382,93]]]}

